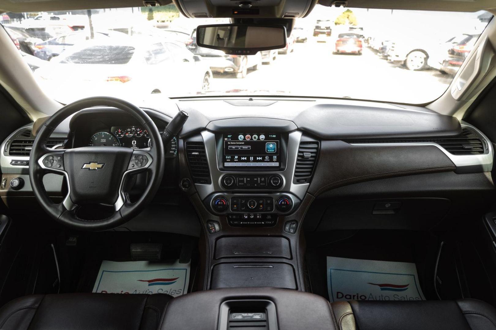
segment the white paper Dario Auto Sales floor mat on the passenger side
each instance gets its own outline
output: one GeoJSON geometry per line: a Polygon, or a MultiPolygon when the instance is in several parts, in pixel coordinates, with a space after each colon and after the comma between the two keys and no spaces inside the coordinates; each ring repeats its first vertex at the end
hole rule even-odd
{"type": "Polygon", "coordinates": [[[425,300],[415,264],[327,257],[329,300],[425,300]]]}

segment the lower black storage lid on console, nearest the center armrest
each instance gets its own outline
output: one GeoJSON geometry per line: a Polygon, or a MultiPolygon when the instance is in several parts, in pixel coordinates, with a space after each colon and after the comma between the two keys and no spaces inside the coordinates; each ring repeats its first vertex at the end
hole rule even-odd
{"type": "Polygon", "coordinates": [[[293,266],[285,263],[222,263],[212,270],[211,289],[272,286],[296,289],[293,266]]]}

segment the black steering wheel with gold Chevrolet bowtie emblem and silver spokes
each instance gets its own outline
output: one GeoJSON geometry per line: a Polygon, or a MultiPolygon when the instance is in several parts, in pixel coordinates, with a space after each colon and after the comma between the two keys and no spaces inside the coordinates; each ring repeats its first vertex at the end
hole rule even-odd
{"type": "Polygon", "coordinates": [[[136,216],[153,198],[164,174],[164,144],[155,123],[139,107],[114,97],[88,97],[67,104],[40,128],[29,156],[29,179],[42,208],[57,222],[77,230],[102,231],[118,227],[136,216]],[[119,146],[85,146],[49,149],[46,144],[55,128],[73,113],[93,107],[110,106],[131,115],[148,131],[151,147],[131,149],[119,146]],[[145,191],[131,203],[124,192],[129,174],[148,172],[145,191]],[[47,173],[62,174],[68,193],[54,203],[43,186],[47,173]],[[77,216],[80,205],[114,206],[103,220],[83,220],[77,216]]]}

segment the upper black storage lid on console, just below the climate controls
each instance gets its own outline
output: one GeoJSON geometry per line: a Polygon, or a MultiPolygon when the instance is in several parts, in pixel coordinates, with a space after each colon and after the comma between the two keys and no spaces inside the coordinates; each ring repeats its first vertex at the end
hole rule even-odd
{"type": "Polygon", "coordinates": [[[222,237],[215,242],[215,259],[272,257],[291,259],[289,240],[285,237],[222,237]]]}

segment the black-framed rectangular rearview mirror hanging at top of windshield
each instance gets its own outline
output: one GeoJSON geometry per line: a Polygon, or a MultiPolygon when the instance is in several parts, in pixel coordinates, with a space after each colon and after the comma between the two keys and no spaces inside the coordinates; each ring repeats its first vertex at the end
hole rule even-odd
{"type": "Polygon", "coordinates": [[[254,55],[260,50],[286,47],[286,28],[282,25],[200,25],[196,29],[196,44],[224,50],[226,54],[254,55]]]}

